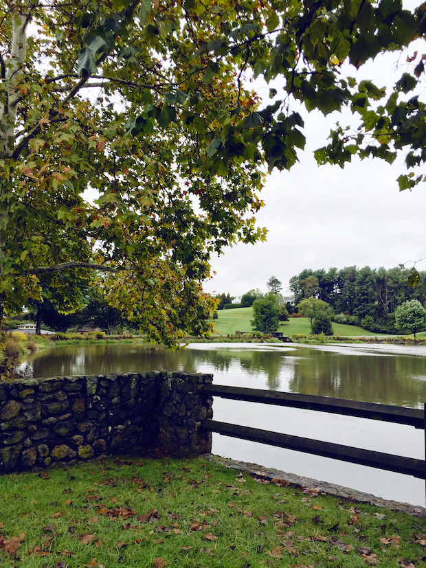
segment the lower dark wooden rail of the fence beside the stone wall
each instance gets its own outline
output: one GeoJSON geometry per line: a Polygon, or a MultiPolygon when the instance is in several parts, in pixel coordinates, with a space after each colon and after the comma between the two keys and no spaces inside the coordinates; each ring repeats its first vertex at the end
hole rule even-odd
{"type": "Polygon", "coordinates": [[[394,471],[396,473],[404,473],[405,475],[418,477],[418,479],[425,479],[426,477],[426,462],[422,459],[363,450],[361,448],[342,446],[341,444],[333,444],[331,442],[320,442],[320,440],[310,440],[309,438],[301,438],[300,436],[269,432],[267,430],[259,430],[247,426],[237,426],[236,424],[227,424],[227,422],[217,422],[216,420],[210,419],[204,420],[202,427],[211,432],[232,436],[232,438],[322,455],[352,464],[360,464],[361,466],[370,466],[387,471],[394,471]]]}

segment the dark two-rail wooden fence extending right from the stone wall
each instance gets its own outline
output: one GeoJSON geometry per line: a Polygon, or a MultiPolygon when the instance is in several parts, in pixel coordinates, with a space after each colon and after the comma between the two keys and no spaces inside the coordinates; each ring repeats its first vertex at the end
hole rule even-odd
{"type": "MultiPolygon", "coordinates": [[[[344,414],[345,416],[357,416],[359,418],[394,422],[396,424],[407,424],[417,429],[423,429],[426,433],[426,404],[425,410],[423,411],[390,405],[377,405],[370,402],[328,398],[326,396],[245,389],[241,387],[225,387],[222,385],[205,385],[204,392],[213,396],[231,398],[233,400],[262,402],[267,405],[302,408],[330,412],[333,414],[344,414]]],[[[386,471],[413,475],[419,479],[426,480],[426,461],[423,459],[401,457],[330,442],[320,442],[320,440],[300,438],[299,436],[259,430],[247,426],[238,426],[236,424],[228,424],[227,422],[217,422],[216,420],[204,420],[203,428],[226,436],[232,436],[233,438],[251,440],[252,442],[279,446],[280,448],[322,455],[352,464],[361,464],[386,471]]]]}

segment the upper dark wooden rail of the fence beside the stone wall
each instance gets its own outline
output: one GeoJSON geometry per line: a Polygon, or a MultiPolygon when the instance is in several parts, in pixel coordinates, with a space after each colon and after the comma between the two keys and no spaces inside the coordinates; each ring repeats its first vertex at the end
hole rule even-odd
{"type": "Polygon", "coordinates": [[[311,394],[227,387],[225,385],[205,385],[203,392],[232,400],[262,402],[266,405],[303,408],[333,414],[344,414],[345,416],[357,416],[357,418],[370,418],[371,420],[407,424],[418,429],[425,428],[423,410],[413,408],[378,405],[374,402],[358,402],[357,400],[328,398],[328,396],[314,396],[311,394]]]}

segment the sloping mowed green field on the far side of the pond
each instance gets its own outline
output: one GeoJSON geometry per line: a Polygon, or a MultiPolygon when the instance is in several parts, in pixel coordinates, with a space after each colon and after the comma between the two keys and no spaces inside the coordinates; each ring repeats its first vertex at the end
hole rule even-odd
{"type": "MultiPolygon", "coordinates": [[[[235,334],[236,331],[252,331],[250,320],[253,317],[253,308],[235,308],[234,310],[218,310],[218,317],[214,320],[214,333],[218,335],[235,334]]],[[[284,322],[278,331],[284,335],[293,333],[311,333],[311,322],[307,317],[291,317],[284,322]]],[[[380,335],[357,326],[345,326],[343,323],[333,321],[335,335],[380,335]]]]}

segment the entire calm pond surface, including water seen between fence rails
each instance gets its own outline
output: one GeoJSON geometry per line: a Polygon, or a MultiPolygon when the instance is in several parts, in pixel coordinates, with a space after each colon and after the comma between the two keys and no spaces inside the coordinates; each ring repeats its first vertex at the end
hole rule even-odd
{"type": "MultiPolygon", "coordinates": [[[[316,394],[423,408],[426,347],[193,343],[181,352],[144,345],[54,348],[28,356],[34,376],[181,370],[214,374],[217,385],[316,394]]],[[[265,430],[425,459],[423,431],[362,418],[214,400],[214,418],[265,430]]],[[[385,499],[425,505],[425,482],[334,459],[214,434],[213,452],[330,481],[385,499]]]]}

